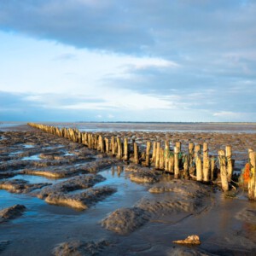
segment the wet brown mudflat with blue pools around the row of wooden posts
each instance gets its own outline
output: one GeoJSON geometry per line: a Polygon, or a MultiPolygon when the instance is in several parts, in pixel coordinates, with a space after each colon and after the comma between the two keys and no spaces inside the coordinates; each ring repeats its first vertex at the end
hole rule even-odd
{"type": "MultiPolygon", "coordinates": [[[[218,130],[227,131],[220,126],[218,130]]],[[[181,141],[183,147],[190,141],[208,142],[215,152],[230,144],[238,170],[247,160],[247,148],[256,148],[255,133],[245,132],[252,131],[253,125],[242,129],[234,125],[229,132],[122,127],[125,131],[114,132],[136,137],[141,145],[148,139],[169,137],[173,143],[181,141]]],[[[1,255],[256,253],[256,203],[247,201],[242,189],[235,198],[227,198],[218,187],[183,180],[176,183],[172,177],[158,174],[150,182],[136,183],[131,181],[132,168],[78,143],[26,125],[1,130],[0,187],[3,183],[13,187],[0,189],[0,210],[26,207],[0,222],[1,255]],[[51,201],[45,200],[49,196],[45,191],[51,201]],[[67,204],[63,201],[67,198],[86,207],[67,204]],[[190,235],[200,236],[201,245],[172,242],[190,235]]]]}

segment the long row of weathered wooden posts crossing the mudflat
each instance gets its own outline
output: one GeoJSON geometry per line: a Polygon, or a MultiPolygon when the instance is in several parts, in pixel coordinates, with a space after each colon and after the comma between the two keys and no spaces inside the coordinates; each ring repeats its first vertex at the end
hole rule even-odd
{"type": "MultiPolygon", "coordinates": [[[[155,169],[164,170],[174,174],[175,178],[194,176],[197,181],[209,182],[216,177],[216,160],[218,160],[219,173],[221,177],[222,189],[229,190],[229,183],[233,174],[235,160],[232,160],[232,148],[226,146],[225,151],[218,151],[218,159],[209,155],[207,143],[195,145],[189,143],[186,153],[181,151],[181,143],[175,143],[173,150],[170,148],[170,142],[165,141],[164,147],[160,142],[150,142],[146,148],[141,151],[135,140],[128,137],[102,137],[102,135],[93,132],[81,132],[73,128],[58,128],[50,125],[41,125],[29,123],[28,125],[39,130],[54,134],[59,137],[65,137],[74,143],[83,143],[88,148],[96,149],[102,153],[107,153],[117,157],[119,160],[131,161],[143,166],[154,166],[155,169]]],[[[255,152],[249,150],[249,160],[252,166],[251,183],[248,184],[249,194],[252,199],[256,199],[255,187],[255,152]],[[253,192],[252,192],[253,191],[253,192]]]]}

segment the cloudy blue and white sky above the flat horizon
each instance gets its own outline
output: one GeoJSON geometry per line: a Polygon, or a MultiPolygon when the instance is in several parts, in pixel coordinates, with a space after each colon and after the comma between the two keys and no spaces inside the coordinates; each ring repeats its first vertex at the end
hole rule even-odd
{"type": "Polygon", "coordinates": [[[256,0],[0,0],[0,121],[256,122],[256,0]]]}

